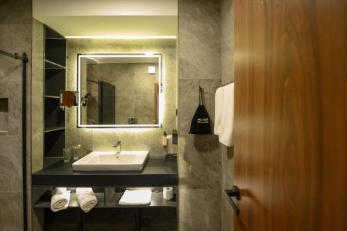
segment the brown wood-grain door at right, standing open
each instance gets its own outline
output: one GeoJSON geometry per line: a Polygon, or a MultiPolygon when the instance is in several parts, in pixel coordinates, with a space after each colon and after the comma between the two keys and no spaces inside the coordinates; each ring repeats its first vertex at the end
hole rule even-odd
{"type": "Polygon", "coordinates": [[[235,0],[234,230],[347,230],[347,1],[235,0]]]}

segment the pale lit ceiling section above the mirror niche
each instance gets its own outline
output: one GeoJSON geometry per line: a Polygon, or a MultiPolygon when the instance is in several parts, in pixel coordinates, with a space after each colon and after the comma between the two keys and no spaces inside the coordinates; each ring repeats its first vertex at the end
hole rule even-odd
{"type": "Polygon", "coordinates": [[[175,37],[177,0],[33,0],[33,17],[65,37],[175,37]]]}

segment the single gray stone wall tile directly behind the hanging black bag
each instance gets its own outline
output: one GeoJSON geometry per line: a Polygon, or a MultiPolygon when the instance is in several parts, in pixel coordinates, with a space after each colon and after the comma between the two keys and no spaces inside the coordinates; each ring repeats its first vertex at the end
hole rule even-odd
{"type": "Polygon", "coordinates": [[[205,108],[212,121],[211,130],[213,132],[214,121],[214,94],[220,86],[220,79],[179,79],[178,80],[178,132],[188,134],[192,118],[198,107],[198,85],[201,85],[205,91],[205,108]]]}

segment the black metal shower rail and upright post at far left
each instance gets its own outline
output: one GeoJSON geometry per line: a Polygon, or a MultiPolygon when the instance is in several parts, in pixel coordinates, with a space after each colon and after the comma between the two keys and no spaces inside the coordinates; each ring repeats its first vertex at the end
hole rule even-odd
{"type": "Polygon", "coordinates": [[[26,63],[28,58],[26,53],[22,53],[22,56],[18,53],[8,53],[6,51],[1,51],[1,55],[6,55],[10,58],[15,58],[16,60],[22,60],[23,69],[22,69],[22,162],[23,162],[23,230],[28,230],[28,218],[27,218],[27,201],[26,201],[26,63]]]}

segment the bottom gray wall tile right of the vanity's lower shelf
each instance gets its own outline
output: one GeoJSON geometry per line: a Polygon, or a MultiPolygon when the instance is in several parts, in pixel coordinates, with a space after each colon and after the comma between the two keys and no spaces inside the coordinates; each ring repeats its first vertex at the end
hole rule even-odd
{"type": "Polygon", "coordinates": [[[220,189],[180,189],[179,230],[221,230],[220,189]]]}

